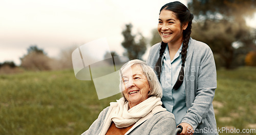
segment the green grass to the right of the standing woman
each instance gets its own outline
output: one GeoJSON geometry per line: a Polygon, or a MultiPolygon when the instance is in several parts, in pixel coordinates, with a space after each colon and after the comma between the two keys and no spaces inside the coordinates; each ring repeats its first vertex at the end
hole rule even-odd
{"type": "Polygon", "coordinates": [[[218,86],[214,101],[219,101],[223,105],[215,107],[218,110],[216,120],[219,128],[235,127],[240,131],[253,128],[249,125],[256,124],[255,82],[256,68],[243,67],[230,71],[217,71],[218,86]]]}

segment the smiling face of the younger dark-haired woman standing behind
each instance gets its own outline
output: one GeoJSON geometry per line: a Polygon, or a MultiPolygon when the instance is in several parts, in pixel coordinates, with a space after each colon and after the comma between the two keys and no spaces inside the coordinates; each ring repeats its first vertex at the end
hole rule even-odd
{"type": "Polygon", "coordinates": [[[158,20],[157,30],[163,42],[168,44],[182,42],[182,30],[185,27],[181,28],[181,22],[173,11],[162,10],[158,20]]]}

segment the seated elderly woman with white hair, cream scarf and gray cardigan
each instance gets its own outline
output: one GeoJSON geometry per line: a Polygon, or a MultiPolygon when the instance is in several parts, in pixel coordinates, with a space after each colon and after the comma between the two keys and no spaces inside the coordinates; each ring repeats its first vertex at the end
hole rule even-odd
{"type": "Polygon", "coordinates": [[[120,69],[122,98],[101,111],[85,134],[175,134],[175,118],[163,108],[162,88],[152,68],[131,60],[120,69]]]}

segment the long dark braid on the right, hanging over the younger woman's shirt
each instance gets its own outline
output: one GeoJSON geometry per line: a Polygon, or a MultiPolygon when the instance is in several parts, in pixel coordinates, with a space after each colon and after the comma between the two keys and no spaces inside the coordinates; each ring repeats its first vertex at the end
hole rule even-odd
{"type": "Polygon", "coordinates": [[[185,66],[185,61],[187,57],[187,48],[188,48],[188,42],[190,39],[191,28],[192,28],[192,21],[189,21],[186,30],[183,31],[184,40],[183,40],[183,46],[181,51],[182,64],[181,64],[181,69],[180,69],[178,79],[173,87],[173,89],[175,90],[177,90],[181,86],[184,80],[184,66],[185,66]]]}

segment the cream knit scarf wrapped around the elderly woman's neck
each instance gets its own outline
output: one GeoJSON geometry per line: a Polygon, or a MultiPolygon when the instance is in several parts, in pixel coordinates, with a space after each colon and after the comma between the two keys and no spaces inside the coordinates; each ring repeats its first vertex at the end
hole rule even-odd
{"type": "Polygon", "coordinates": [[[112,102],[112,105],[117,106],[117,108],[112,114],[111,120],[116,124],[116,127],[123,128],[133,125],[140,118],[150,113],[153,108],[162,105],[162,102],[160,98],[150,97],[128,110],[128,102],[121,98],[117,102],[112,102]]]}

